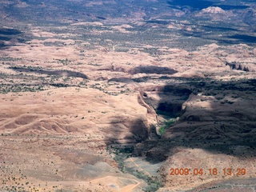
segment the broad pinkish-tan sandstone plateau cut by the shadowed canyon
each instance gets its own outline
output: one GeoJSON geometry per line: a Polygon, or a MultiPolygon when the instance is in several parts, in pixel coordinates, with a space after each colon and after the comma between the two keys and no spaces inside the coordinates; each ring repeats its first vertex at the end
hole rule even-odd
{"type": "MultiPolygon", "coordinates": [[[[102,26],[96,24],[65,27],[102,26]]],[[[159,191],[231,178],[250,178],[256,190],[254,47],[119,51],[111,40],[102,46],[26,27],[30,40],[1,40],[1,191],[142,191],[155,187],[146,176],[159,191]],[[131,148],[129,161],[120,162],[131,148]],[[219,172],[173,176],[172,168],[219,172]],[[224,175],[225,168],[235,171],[224,175]],[[246,174],[236,174],[242,168],[246,174]]]]}

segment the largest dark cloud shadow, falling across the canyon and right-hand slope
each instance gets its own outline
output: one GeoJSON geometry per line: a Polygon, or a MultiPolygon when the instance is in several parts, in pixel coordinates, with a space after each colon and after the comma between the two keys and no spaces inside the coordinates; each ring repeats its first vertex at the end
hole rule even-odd
{"type": "MultiPolygon", "coordinates": [[[[161,138],[154,139],[149,139],[151,130],[146,130],[141,119],[130,123],[128,131],[133,136],[129,139],[139,142],[139,145],[134,146],[134,156],[144,157],[152,163],[162,162],[177,153],[177,147],[182,146],[207,150],[212,154],[256,158],[255,106],[248,106],[248,102],[253,102],[256,96],[256,80],[222,82],[210,78],[182,79],[186,81],[143,90],[144,101],[154,110],[166,114],[167,118],[178,119],[161,138]],[[156,102],[150,95],[158,95],[160,100],[156,102]],[[185,105],[184,108],[182,104],[192,95],[197,97],[194,102],[199,104],[208,101],[210,106],[192,106],[188,109],[190,106],[185,105]],[[246,106],[247,109],[242,110],[240,106],[246,106]],[[237,146],[242,146],[243,150],[234,150],[237,146]]],[[[116,135],[109,138],[110,143],[117,141],[118,133],[122,132],[120,127],[114,127],[116,135]]]]}

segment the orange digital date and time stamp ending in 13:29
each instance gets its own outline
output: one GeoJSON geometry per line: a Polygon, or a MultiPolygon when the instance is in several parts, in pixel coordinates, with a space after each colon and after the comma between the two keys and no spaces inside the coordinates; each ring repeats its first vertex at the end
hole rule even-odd
{"type": "Polygon", "coordinates": [[[218,170],[217,168],[210,168],[210,169],[188,169],[188,168],[170,168],[170,175],[237,175],[242,176],[246,175],[246,169],[245,168],[224,168],[222,170],[218,170]]]}

